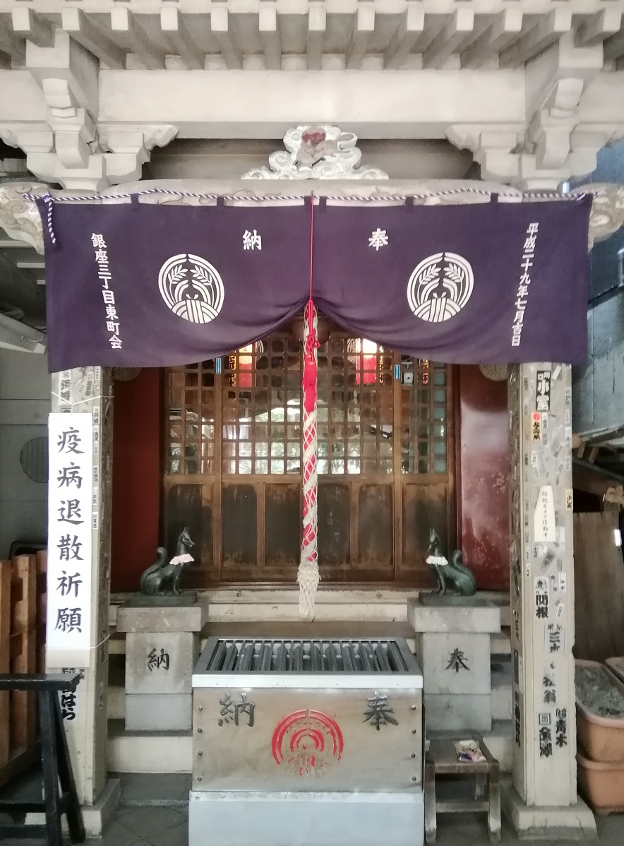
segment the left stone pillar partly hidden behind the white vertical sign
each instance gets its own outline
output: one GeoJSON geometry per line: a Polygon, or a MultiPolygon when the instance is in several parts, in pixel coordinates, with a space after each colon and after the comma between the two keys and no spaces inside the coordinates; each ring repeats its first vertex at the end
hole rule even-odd
{"type": "MultiPolygon", "coordinates": [[[[119,799],[119,783],[107,781],[108,609],[111,574],[112,374],[80,367],[52,374],[52,412],[92,415],[93,491],[91,521],[90,655],[75,667],[82,679],[75,700],[62,702],[65,730],[83,805],[87,836],[97,837],[119,799]]],[[[51,480],[52,482],[52,480],[51,480]]],[[[53,491],[52,484],[50,491],[53,491]]],[[[56,507],[57,503],[54,503],[56,507]]],[[[51,497],[52,507],[52,497],[51,497]]],[[[50,549],[48,561],[55,554],[50,549]]],[[[48,585],[48,591],[52,585],[48,585]]],[[[58,653],[47,655],[56,669],[58,653]]]]}

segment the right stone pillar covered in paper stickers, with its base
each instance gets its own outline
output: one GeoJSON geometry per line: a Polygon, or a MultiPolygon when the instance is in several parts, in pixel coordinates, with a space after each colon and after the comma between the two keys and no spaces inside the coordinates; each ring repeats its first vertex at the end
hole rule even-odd
{"type": "Polygon", "coordinates": [[[508,405],[515,729],[504,808],[524,836],[591,836],[576,777],[571,368],[512,367],[508,405]]]}

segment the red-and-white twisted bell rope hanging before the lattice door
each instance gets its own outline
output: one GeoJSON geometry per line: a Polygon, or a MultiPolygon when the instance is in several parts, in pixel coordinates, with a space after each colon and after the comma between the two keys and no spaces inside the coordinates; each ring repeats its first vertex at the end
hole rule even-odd
{"type": "MultiPolygon", "coordinates": [[[[304,312],[304,350],[310,330],[317,333],[317,313],[313,306],[313,326],[309,326],[308,309],[304,312]]],[[[314,347],[315,364],[318,360],[314,347]]],[[[304,620],[315,618],[315,596],[319,586],[319,558],[318,558],[318,521],[317,521],[317,488],[318,474],[316,467],[316,406],[310,411],[305,409],[304,426],[302,431],[304,451],[304,531],[301,540],[301,558],[297,572],[299,585],[299,617],[304,620]]]]}

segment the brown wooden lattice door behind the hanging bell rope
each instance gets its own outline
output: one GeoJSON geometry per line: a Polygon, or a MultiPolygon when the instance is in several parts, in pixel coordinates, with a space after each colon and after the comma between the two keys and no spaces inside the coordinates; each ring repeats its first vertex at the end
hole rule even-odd
{"type": "MultiPolygon", "coordinates": [[[[323,584],[429,583],[429,526],[454,533],[450,369],[334,331],[318,373],[323,584]]],[[[301,376],[287,333],[167,371],[167,542],[189,525],[198,586],[295,584],[301,376]]]]}

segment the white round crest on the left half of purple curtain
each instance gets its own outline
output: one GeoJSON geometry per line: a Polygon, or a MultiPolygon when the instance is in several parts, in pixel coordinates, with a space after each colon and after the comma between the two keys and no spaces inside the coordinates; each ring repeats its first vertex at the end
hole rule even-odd
{"type": "Polygon", "coordinates": [[[167,308],[189,323],[210,323],[223,307],[223,281],[200,255],[172,255],[158,273],[158,289],[167,308]]]}

